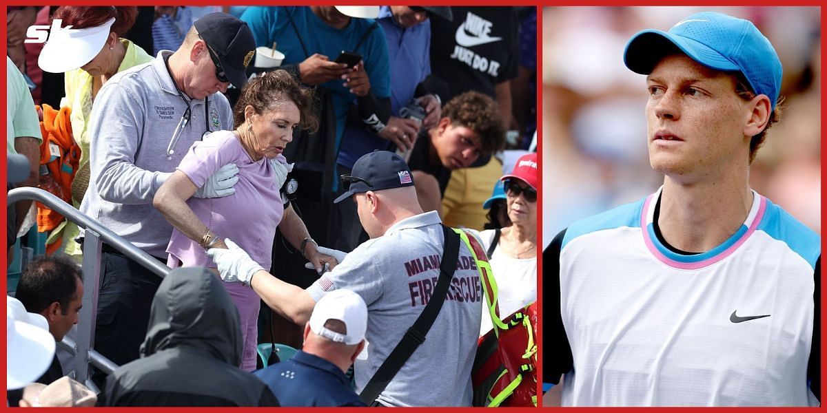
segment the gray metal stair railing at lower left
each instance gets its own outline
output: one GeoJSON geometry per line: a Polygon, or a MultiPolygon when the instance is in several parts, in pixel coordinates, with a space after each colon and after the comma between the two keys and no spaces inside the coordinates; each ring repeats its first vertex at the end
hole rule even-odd
{"type": "Polygon", "coordinates": [[[65,337],[64,341],[60,343],[60,347],[69,351],[69,354],[74,354],[74,369],[73,372],[69,374],[74,373],[75,380],[96,390],[97,387],[89,377],[89,365],[91,364],[107,374],[112,373],[112,370],[117,368],[117,364],[112,363],[108,358],[103,357],[103,355],[93,349],[95,320],[98,317],[101,246],[105,242],[142,267],[157,274],[160,278],[164,278],[166,274],[170,272],[170,268],[160,263],[150,254],[146,254],[146,252],[131,244],[129,241],[124,240],[120,235],[115,234],[100,222],[84,215],[59,197],[55,197],[55,195],[52,195],[50,192],[39,188],[14,188],[8,192],[6,203],[7,205],[12,205],[19,201],[29,200],[41,202],[46,207],[50,207],[53,211],[59,212],[65,216],[67,220],[74,222],[74,224],[85,230],[84,258],[82,262],[84,299],[81,301],[83,308],[80,310],[78,316],[77,342],[73,342],[72,339],[65,337]]]}

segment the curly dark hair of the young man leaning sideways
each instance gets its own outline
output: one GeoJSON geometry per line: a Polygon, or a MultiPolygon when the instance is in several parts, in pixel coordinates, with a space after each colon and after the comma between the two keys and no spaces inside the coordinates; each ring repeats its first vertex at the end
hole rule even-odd
{"type": "Polygon", "coordinates": [[[505,146],[505,126],[497,104],[479,92],[466,92],[442,107],[442,117],[455,126],[465,126],[480,137],[481,150],[490,154],[505,146]]]}

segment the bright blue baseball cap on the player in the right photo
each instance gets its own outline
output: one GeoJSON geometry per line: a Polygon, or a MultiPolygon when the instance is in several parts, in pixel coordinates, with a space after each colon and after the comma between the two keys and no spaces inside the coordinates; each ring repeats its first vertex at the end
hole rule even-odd
{"type": "Polygon", "coordinates": [[[700,12],[678,21],[669,31],[640,31],[626,44],[624,63],[635,73],[650,74],[675,47],[710,69],[741,72],[753,91],[767,95],[775,109],[781,92],[781,60],[752,21],[700,12]]]}

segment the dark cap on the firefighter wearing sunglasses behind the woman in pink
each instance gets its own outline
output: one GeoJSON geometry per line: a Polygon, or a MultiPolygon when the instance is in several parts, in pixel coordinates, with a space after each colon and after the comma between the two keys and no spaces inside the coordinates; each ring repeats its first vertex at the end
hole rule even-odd
{"type": "Polygon", "coordinates": [[[256,55],[256,40],[250,27],[222,12],[204,15],[193,26],[215,54],[230,83],[242,88],[247,82],[246,68],[256,55]]]}

